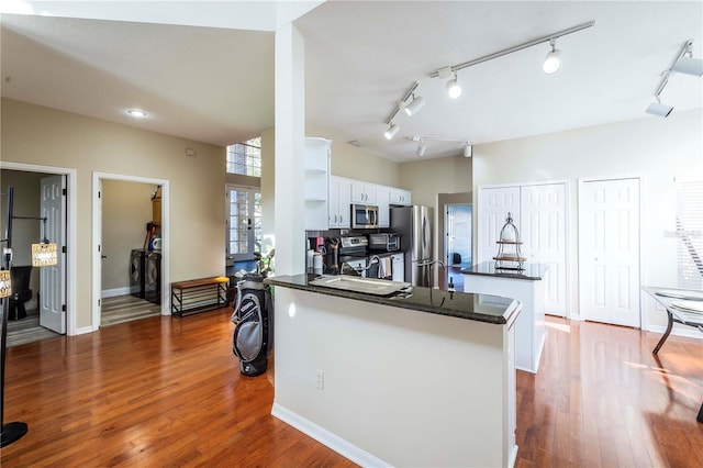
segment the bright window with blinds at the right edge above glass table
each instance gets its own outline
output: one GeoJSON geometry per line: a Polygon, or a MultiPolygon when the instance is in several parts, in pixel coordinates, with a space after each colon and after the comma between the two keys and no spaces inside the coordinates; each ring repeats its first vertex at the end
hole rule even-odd
{"type": "Polygon", "coordinates": [[[678,286],[703,289],[703,180],[679,179],[677,186],[678,286]]]}

